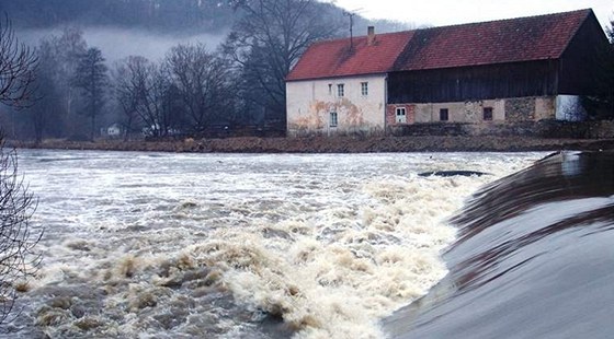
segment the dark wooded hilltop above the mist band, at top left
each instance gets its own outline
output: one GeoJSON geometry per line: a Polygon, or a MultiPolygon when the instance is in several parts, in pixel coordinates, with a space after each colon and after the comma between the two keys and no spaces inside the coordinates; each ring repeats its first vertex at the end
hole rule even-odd
{"type": "Polygon", "coordinates": [[[79,24],[159,32],[219,32],[237,15],[220,0],[0,0],[0,11],[24,28],[79,24]]]}

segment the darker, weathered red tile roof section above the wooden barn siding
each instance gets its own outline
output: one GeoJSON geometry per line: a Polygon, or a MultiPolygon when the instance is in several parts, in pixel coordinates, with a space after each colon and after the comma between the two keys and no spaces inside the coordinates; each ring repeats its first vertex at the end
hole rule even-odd
{"type": "Polygon", "coordinates": [[[558,59],[591,10],[419,30],[395,65],[421,70],[558,59]]]}

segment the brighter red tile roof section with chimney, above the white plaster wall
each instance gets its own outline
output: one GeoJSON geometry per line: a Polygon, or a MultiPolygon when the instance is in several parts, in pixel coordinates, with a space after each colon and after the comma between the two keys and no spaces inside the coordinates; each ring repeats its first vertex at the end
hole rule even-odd
{"type": "Polygon", "coordinates": [[[366,36],[320,42],[311,45],[286,80],[337,78],[387,73],[407,46],[413,32],[377,34],[373,45],[366,36]]]}

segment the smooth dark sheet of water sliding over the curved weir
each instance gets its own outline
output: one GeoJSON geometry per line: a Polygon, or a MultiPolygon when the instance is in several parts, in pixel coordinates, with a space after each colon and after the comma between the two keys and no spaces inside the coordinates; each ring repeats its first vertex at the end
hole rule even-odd
{"type": "Polygon", "coordinates": [[[384,322],[390,337],[612,337],[614,152],[549,156],[452,222],[450,274],[384,322]]]}

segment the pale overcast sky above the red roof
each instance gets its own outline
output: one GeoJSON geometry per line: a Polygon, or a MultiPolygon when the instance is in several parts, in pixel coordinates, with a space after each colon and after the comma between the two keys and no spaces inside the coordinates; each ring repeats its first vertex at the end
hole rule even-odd
{"type": "Polygon", "coordinates": [[[368,19],[444,26],[592,8],[602,26],[614,17],[612,0],[331,0],[368,19]]]}

